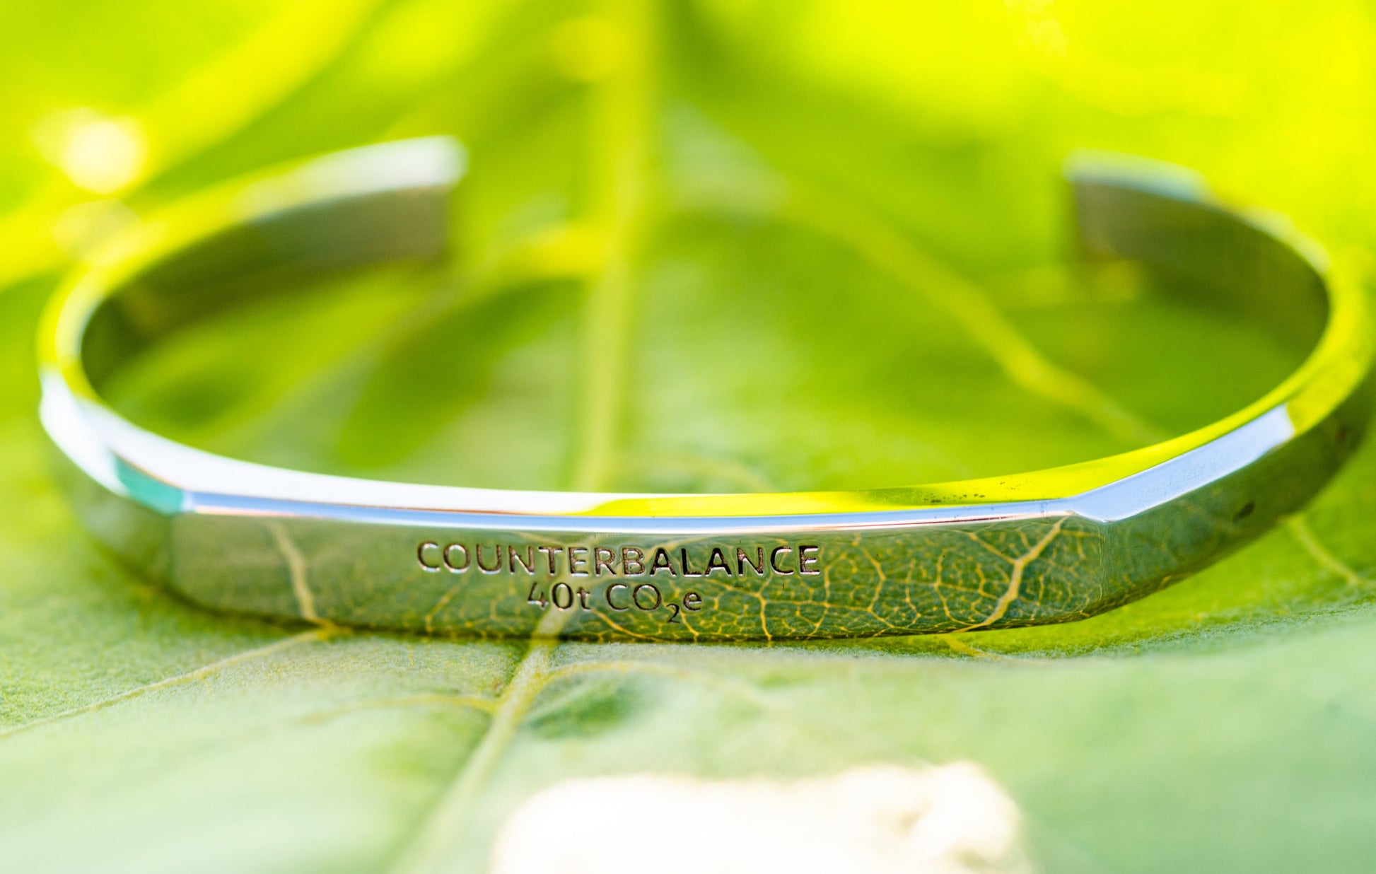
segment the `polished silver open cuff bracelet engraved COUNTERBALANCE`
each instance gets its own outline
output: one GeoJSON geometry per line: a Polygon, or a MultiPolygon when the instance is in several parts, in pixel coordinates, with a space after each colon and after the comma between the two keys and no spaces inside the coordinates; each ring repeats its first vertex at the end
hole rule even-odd
{"type": "Polygon", "coordinates": [[[202,604],[436,633],[739,640],[1064,622],[1153,592],[1304,504],[1370,402],[1362,295],[1313,244],[1174,168],[1071,168],[1090,259],[1128,259],[1313,352],[1236,414],[1156,446],[853,493],[596,494],[385,483],[224,458],[99,390],[133,351],[271,275],[440,253],[447,139],[316,158],[140,226],[54,300],[43,423],[103,542],[202,604]],[[226,288],[237,289],[233,295],[226,288]]]}

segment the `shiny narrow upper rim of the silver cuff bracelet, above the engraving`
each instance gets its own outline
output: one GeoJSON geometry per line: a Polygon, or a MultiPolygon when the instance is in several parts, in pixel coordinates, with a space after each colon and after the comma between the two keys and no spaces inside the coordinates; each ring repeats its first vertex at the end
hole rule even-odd
{"type": "Polygon", "coordinates": [[[954,483],[860,491],[615,494],[468,489],[307,473],[238,461],[133,425],[91,387],[85,326],[121,284],[198,239],[323,201],[449,189],[465,169],[449,138],[365,146],[195,195],[113,241],[52,299],[39,337],[40,414],[58,447],[110,491],[165,515],[336,518],[549,531],[786,531],[1079,515],[1113,522],[1227,476],[1322,423],[1365,381],[1373,356],[1364,292],[1273,213],[1230,209],[1189,171],[1079,157],[1072,184],[1146,190],[1262,230],[1322,279],[1324,332],[1300,367],[1256,402],[1189,434],[1094,461],[954,483]],[[1183,180],[1183,184],[1182,184],[1183,180]]]}

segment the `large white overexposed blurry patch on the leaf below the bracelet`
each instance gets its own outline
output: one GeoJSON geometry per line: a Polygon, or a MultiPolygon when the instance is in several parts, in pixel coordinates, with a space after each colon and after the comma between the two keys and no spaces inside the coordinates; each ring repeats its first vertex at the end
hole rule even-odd
{"type": "Polygon", "coordinates": [[[1018,808],[978,767],[867,767],[795,782],[629,775],[522,805],[493,874],[1026,871],[1018,808]]]}

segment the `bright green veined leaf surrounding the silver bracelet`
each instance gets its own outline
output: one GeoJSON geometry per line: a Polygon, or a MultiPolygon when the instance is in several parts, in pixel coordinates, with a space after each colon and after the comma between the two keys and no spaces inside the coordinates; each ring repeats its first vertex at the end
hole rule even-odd
{"type": "MultiPolygon", "coordinates": [[[[951,763],[1015,837],[932,870],[1376,863],[1376,446],[1254,546],[1058,628],[533,666],[522,641],[216,617],[124,571],[45,475],[32,334],[63,271],[183,193],[429,134],[471,153],[454,259],[189,330],[118,406],[237,457],[495,487],[874,487],[1139,446],[1296,352],[1068,270],[1061,162],[1186,164],[1365,271],[1376,10],[0,6],[7,870],[480,871],[577,778],[729,793],[951,763]]],[[[801,864],[665,797],[662,842],[556,808],[542,870],[583,870],[571,846],[604,870],[801,864]]]]}

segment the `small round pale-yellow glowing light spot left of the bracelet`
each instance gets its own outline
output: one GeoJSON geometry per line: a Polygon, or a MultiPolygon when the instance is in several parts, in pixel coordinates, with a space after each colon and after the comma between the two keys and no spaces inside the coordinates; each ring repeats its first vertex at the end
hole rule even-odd
{"type": "Polygon", "coordinates": [[[43,156],[80,189],[111,194],[147,167],[149,140],[138,118],[94,109],[52,113],[34,131],[43,156]]]}

